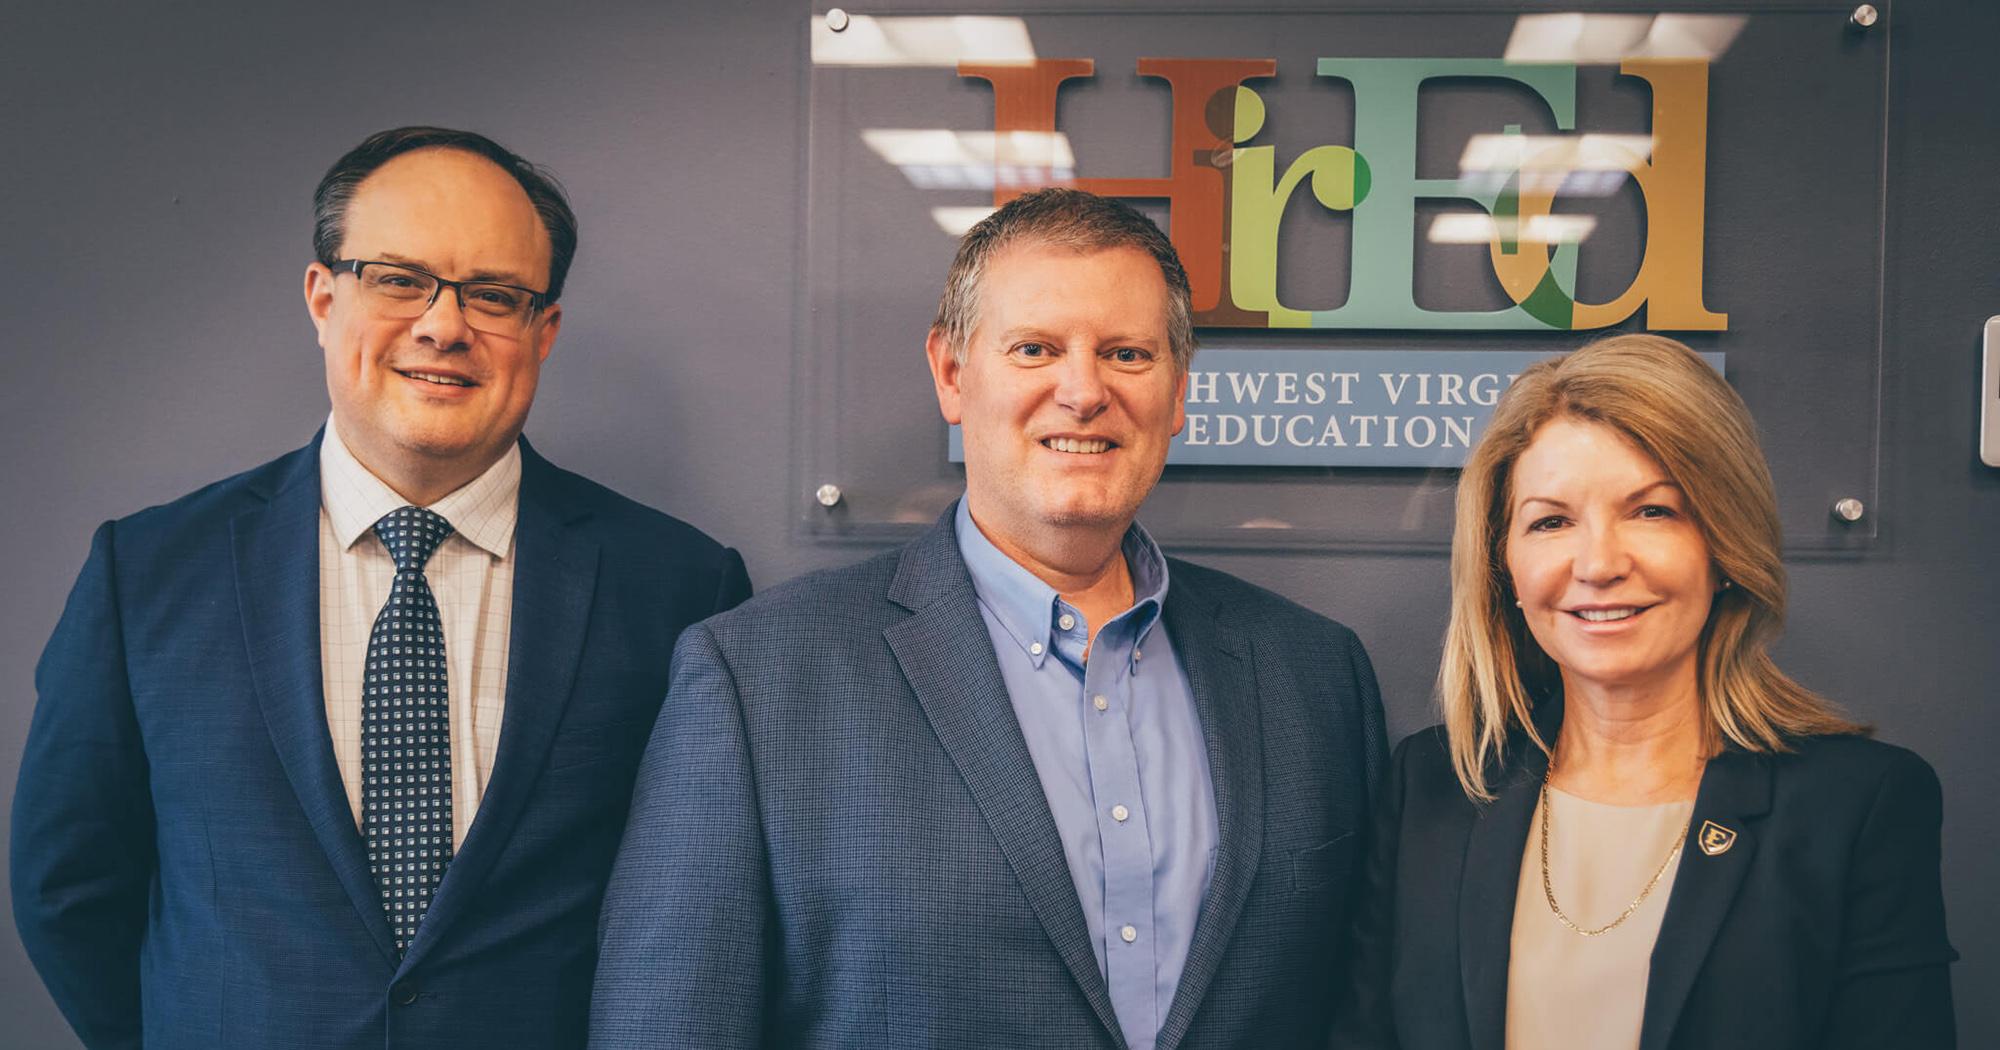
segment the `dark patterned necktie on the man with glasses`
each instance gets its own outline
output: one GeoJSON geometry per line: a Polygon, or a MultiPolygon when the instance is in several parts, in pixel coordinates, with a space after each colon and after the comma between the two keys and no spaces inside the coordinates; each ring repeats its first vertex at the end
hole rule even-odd
{"type": "Polygon", "coordinates": [[[424,562],[452,522],[404,506],[376,522],[396,584],[368,634],[362,674],[362,838],[396,952],[410,948],[452,862],[452,728],[444,630],[424,562]]]}

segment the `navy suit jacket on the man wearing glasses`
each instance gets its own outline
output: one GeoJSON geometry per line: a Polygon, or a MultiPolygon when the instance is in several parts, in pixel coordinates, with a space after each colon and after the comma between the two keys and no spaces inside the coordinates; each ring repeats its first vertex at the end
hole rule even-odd
{"type": "Polygon", "coordinates": [[[36,670],[22,944],[92,1048],[580,1046],[680,630],[736,552],[522,444],[506,716],[404,958],[320,688],[318,440],[104,524],[36,670]]]}

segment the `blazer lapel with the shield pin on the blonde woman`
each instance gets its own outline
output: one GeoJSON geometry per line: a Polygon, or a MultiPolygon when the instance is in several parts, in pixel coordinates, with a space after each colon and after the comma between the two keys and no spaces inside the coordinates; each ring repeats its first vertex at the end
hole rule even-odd
{"type": "Polygon", "coordinates": [[[1674,870],[1674,890],[1666,898],[1660,938],[1652,946],[1652,968],[1646,978],[1646,1016],[1640,1024],[1640,1050],[1666,1050],[1674,1038],[1680,1008],[1688,1002],[1694,978],[1702,972],[1708,946],[1730,914],[1736,890],[1756,858],[1756,818],[1770,812],[1770,764],[1766,758],[1736,748],[1708,760],[1702,788],[1694,796],[1688,818],[1688,842],[1674,870]],[[1734,840],[1718,854],[1702,850],[1702,826],[1714,822],[1734,832],[1734,840]]]}

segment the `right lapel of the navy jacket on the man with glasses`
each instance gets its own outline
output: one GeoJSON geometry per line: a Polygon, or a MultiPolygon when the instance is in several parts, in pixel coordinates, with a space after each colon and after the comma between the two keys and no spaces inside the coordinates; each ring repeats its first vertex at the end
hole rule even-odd
{"type": "Polygon", "coordinates": [[[576,524],[588,518],[562,492],[560,472],[522,440],[520,518],[514,524],[514,614],[508,628],[506,714],[492,776],[464,844],[444,870],[404,964],[436,944],[472,900],[542,776],[548,746],[576,684],[584,628],[596,596],[598,544],[576,524]]]}

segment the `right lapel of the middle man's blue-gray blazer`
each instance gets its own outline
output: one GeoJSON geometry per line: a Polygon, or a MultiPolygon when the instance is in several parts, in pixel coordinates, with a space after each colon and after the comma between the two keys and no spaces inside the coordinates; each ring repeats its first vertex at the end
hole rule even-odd
{"type": "Polygon", "coordinates": [[[1216,870],[1188,944],[1160,1048],[1178,1046],[1222,966],[1264,852],[1264,728],[1250,646],[1188,574],[1166,598],[1166,632],[1188,672],[1216,790],[1216,870]]]}

